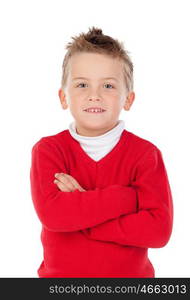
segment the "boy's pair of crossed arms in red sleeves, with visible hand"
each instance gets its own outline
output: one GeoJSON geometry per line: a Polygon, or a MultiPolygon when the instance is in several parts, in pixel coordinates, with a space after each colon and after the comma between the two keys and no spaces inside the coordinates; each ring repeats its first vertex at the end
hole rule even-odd
{"type": "Polygon", "coordinates": [[[158,148],[148,151],[139,161],[131,187],[111,185],[105,189],[85,191],[66,174],[58,175],[56,186],[54,175],[62,172],[63,167],[60,170],[59,164],[56,164],[51,154],[52,147],[39,143],[32,154],[32,197],[45,227],[64,232],[82,230],[90,239],[136,247],[157,248],[168,242],[172,231],[173,204],[158,148]],[[61,188],[67,189],[68,183],[71,190],[73,186],[73,191],[60,191],[61,188]]]}

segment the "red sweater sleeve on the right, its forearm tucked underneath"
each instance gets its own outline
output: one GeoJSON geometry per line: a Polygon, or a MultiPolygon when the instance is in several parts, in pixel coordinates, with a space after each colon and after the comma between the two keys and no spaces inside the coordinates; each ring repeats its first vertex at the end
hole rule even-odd
{"type": "Polygon", "coordinates": [[[161,248],[170,239],[173,200],[161,151],[155,146],[137,164],[132,186],[138,210],[84,230],[94,240],[121,245],[161,248]]]}

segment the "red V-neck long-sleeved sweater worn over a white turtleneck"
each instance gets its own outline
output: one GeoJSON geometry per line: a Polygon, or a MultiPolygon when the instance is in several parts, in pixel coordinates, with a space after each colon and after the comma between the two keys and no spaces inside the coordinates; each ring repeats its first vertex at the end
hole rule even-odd
{"type": "Polygon", "coordinates": [[[39,277],[155,277],[148,248],[170,239],[173,202],[161,151],[124,129],[99,161],[64,130],[32,148],[31,194],[42,223],[39,277]],[[86,190],[63,192],[55,173],[86,190]]]}

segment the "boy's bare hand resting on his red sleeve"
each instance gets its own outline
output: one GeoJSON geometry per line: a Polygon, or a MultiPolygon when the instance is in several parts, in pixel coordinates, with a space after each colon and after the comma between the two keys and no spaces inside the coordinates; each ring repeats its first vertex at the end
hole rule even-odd
{"type": "Polygon", "coordinates": [[[78,189],[80,192],[86,191],[82,186],[76,181],[74,177],[66,173],[56,173],[54,183],[62,192],[74,192],[78,189]]]}

